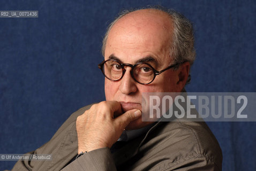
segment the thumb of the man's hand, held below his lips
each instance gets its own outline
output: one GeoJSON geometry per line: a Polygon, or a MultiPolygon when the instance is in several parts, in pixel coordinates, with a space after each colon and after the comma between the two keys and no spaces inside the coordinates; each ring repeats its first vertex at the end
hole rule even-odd
{"type": "Polygon", "coordinates": [[[124,114],[116,118],[116,122],[119,123],[121,129],[124,129],[131,121],[134,121],[141,116],[141,111],[138,109],[133,109],[126,111],[124,114]]]}

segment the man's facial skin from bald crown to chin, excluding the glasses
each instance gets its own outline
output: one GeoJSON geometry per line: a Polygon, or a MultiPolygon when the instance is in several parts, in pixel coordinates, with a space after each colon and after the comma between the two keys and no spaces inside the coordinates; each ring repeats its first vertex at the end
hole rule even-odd
{"type": "MultiPolygon", "coordinates": [[[[121,63],[136,64],[145,61],[157,71],[172,64],[169,40],[172,25],[170,19],[156,11],[140,10],[125,15],[110,30],[106,43],[104,59],[118,59],[121,63]]],[[[141,110],[143,92],[179,92],[186,79],[182,74],[189,68],[180,67],[177,71],[168,69],[155,77],[147,85],[139,84],[132,79],[131,67],[126,67],[123,78],[110,81],[105,78],[106,100],[121,103],[123,112],[137,108],[141,110]],[[181,78],[184,77],[184,78],[181,78]],[[183,81],[181,81],[183,79],[183,81]]],[[[138,129],[149,125],[141,118],[130,123],[127,129],[138,129]]]]}

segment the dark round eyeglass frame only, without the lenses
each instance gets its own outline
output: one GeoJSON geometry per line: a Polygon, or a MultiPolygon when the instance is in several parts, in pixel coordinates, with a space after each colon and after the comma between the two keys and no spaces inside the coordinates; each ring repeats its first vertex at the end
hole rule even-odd
{"type": "Polygon", "coordinates": [[[167,69],[173,68],[173,67],[178,66],[178,65],[180,65],[180,64],[183,64],[183,63],[176,63],[176,64],[173,64],[173,65],[168,66],[167,68],[165,68],[165,69],[163,69],[163,70],[161,70],[161,71],[157,71],[153,66],[151,66],[151,65],[148,64],[148,63],[137,63],[137,64],[132,65],[132,64],[127,64],[127,63],[122,64],[122,63],[120,63],[119,61],[117,61],[117,60],[115,60],[115,59],[108,59],[108,60],[103,60],[103,61],[98,65],[98,67],[101,69],[101,72],[103,73],[103,75],[104,75],[107,79],[109,79],[109,80],[111,80],[111,81],[119,81],[119,80],[121,80],[121,79],[123,78],[123,76],[124,76],[124,74],[125,74],[125,72],[126,72],[126,69],[125,69],[124,67],[125,67],[125,66],[130,66],[130,67],[132,68],[131,71],[130,71],[130,74],[131,74],[133,80],[136,81],[136,82],[138,82],[138,83],[140,83],[140,84],[147,85],[147,84],[152,83],[152,82],[155,80],[156,75],[159,75],[159,74],[163,73],[164,71],[167,71],[167,69]],[[121,66],[121,68],[122,68],[123,73],[122,73],[122,76],[120,77],[120,79],[118,79],[118,80],[112,80],[112,79],[110,79],[109,77],[107,77],[107,76],[105,75],[105,73],[104,73],[104,71],[103,71],[103,65],[104,65],[105,63],[107,63],[107,61],[110,61],[110,60],[111,60],[111,61],[115,61],[115,62],[118,63],[118,64],[121,66]],[[140,65],[140,64],[146,64],[146,65],[148,65],[150,68],[152,68],[152,70],[153,70],[153,72],[154,72],[154,77],[153,77],[152,81],[150,81],[149,83],[140,83],[140,82],[137,81],[137,80],[134,78],[134,76],[133,76],[133,69],[134,69],[137,65],[140,65]]]}

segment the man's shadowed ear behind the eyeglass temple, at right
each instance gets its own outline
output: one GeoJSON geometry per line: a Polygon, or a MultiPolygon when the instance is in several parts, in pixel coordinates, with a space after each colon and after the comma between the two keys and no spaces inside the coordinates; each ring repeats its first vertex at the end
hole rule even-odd
{"type": "Polygon", "coordinates": [[[185,62],[179,66],[179,68],[178,68],[179,79],[177,82],[177,86],[180,91],[185,87],[187,77],[189,77],[189,73],[190,73],[190,63],[189,62],[185,62]]]}

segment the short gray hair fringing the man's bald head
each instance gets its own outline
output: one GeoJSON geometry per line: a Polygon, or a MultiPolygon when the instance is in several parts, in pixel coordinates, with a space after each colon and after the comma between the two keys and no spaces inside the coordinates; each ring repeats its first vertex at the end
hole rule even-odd
{"type": "MultiPolygon", "coordinates": [[[[174,26],[174,31],[172,33],[172,39],[170,42],[170,56],[173,58],[172,64],[183,63],[188,61],[190,65],[193,64],[195,60],[195,49],[194,49],[194,36],[193,36],[193,26],[191,22],[184,17],[184,15],[176,12],[175,10],[165,9],[162,6],[147,6],[141,9],[124,10],[118,14],[117,18],[111,22],[107,28],[107,32],[104,35],[102,41],[102,55],[104,56],[106,43],[108,39],[109,32],[111,28],[116,24],[116,22],[124,17],[124,15],[129,14],[133,11],[149,9],[149,10],[159,10],[160,12],[166,13],[174,26]]],[[[171,65],[171,64],[170,64],[171,65]]],[[[190,82],[190,76],[187,83],[190,82]]]]}

